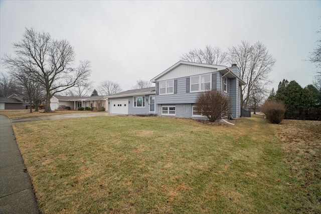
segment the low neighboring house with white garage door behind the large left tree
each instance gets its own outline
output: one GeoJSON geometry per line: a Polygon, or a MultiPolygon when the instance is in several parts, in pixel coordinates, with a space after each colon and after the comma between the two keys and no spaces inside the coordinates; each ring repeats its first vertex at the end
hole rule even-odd
{"type": "Polygon", "coordinates": [[[57,110],[59,106],[69,106],[72,110],[77,110],[79,107],[104,107],[107,111],[108,103],[104,96],[92,96],[92,97],[68,97],[54,95],[50,99],[51,110],[57,110]]]}

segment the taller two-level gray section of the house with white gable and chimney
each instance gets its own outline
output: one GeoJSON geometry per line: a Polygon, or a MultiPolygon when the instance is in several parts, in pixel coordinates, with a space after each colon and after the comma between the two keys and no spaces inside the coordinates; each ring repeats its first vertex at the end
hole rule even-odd
{"type": "Polygon", "coordinates": [[[240,78],[236,65],[208,65],[179,61],[163,73],[151,79],[155,83],[156,113],[161,116],[202,117],[194,104],[199,92],[220,90],[231,99],[231,113],[238,118],[241,115],[241,86],[245,82],[240,78]]]}

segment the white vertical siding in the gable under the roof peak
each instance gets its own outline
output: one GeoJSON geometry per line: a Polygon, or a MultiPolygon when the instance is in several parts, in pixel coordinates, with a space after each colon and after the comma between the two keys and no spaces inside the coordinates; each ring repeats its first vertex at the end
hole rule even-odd
{"type": "Polygon", "coordinates": [[[217,71],[216,68],[206,68],[193,65],[179,65],[177,68],[173,69],[171,72],[165,74],[163,77],[157,79],[158,81],[178,79],[182,77],[189,77],[194,75],[212,73],[217,71]]]}

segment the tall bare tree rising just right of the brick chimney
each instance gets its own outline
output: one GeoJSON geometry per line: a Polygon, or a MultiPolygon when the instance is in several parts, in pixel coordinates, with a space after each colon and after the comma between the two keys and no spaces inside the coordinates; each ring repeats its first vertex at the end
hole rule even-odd
{"type": "Polygon", "coordinates": [[[246,108],[254,87],[266,86],[272,82],[269,73],[276,60],[262,43],[251,45],[242,41],[241,45],[228,48],[228,61],[238,65],[240,76],[246,82],[241,93],[241,107],[246,108]]]}

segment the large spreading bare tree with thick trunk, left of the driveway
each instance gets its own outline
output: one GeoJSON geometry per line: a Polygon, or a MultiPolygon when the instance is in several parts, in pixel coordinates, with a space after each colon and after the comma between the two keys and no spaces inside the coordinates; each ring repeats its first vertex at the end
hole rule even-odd
{"type": "Polygon", "coordinates": [[[77,68],[75,52],[66,40],[53,40],[49,33],[26,29],[21,42],[13,44],[16,57],[4,55],[7,68],[26,72],[46,90],[46,109],[51,112],[50,99],[90,76],[90,62],[82,61],[77,68]]]}

